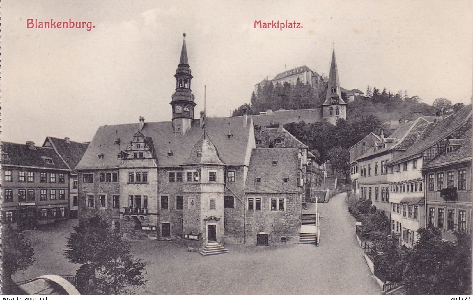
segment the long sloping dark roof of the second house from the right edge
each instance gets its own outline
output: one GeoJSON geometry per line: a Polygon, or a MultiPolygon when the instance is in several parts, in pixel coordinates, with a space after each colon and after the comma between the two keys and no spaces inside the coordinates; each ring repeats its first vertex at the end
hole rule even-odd
{"type": "Polygon", "coordinates": [[[458,110],[456,114],[451,114],[437,122],[430,123],[423,131],[420,137],[404,153],[394,158],[390,164],[396,164],[403,159],[408,159],[414,155],[420,154],[438,141],[444,139],[458,128],[463,126],[472,115],[472,105],[465,106],[458,110]]]}

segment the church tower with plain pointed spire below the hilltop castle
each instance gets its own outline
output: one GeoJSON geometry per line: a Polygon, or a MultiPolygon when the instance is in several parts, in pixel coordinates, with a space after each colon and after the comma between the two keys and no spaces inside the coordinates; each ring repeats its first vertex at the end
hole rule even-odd
{"type": "Polygon", "coordinates": [[[335,125],[337,119],[346,119],[347,103],[342,100],[340,91],[340,80],[338,79],[337,60],[335,59],[335,48],[332,53],[330,64],[330,75],[328,77],[327,96],[322,104],[323,119],[335,125]]]}

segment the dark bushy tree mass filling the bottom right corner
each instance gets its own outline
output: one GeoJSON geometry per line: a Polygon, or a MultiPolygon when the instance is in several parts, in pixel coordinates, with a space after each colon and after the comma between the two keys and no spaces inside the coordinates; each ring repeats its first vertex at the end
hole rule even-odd
{"type": "MultiPolygon", "coordinates": [[[[431,224],[420,228],[417,233],[419,241],[409,251],[404,269],[403,283],[407,293],[471,294],[471,240],[458,241],[457,244],[446,242],[442,240],[440,230],[431,224]]],[[[460,240],[466,238],[459,237],[460,240]]]]}

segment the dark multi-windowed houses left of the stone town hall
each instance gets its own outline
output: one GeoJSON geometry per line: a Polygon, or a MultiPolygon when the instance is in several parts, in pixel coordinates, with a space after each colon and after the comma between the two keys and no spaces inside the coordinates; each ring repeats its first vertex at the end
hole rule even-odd
{"type": "Polygon", "coordinates": [[[41,147],[2,142],[1,220],[20,229],[78,217],[75,167],[88,143],[46,137],[41,147]]]}

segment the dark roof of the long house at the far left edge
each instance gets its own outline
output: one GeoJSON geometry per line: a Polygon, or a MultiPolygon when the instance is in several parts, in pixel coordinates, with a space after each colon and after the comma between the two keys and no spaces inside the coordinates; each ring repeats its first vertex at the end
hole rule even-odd
{"type": "Polygon", "coordinates": [[[30,149],[26,144],[12,142],[1,142],[1,147],[1,163],[5,165],[70,169],[58,154],[50,148],[36,146],[35,149],[30,149]],[[48,158],[53,160],[53,164],[47,162],[46,159],[48,158]]]}

